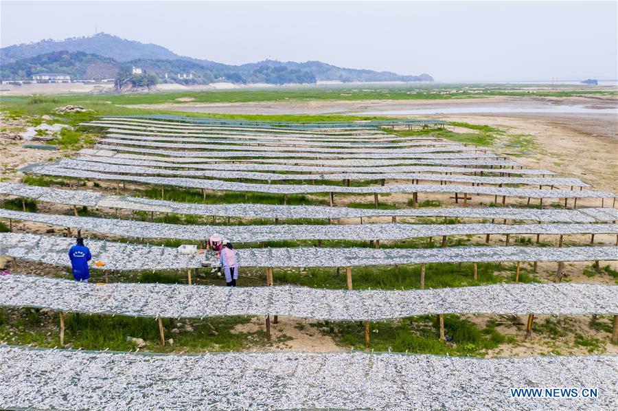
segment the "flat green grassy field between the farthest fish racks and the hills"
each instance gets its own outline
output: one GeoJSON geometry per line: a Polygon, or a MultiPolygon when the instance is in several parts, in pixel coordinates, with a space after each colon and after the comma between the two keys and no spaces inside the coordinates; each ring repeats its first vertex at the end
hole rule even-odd
{"type": "MultiPolygon", "coordinates": [[[[464,98],[488,98],[496,96],[536,96],[566,98],[572,96],[615,96],[615,91],[584,90],[573,87],[554,87],[551,91],[526,89],[525,86],[511,87],[508,85],[393,85],[333,87],[302,87],[296,89],[241,89],[241,90],[208,90],[208,91],[178,91],[162,93],[135,94],[82,94],[71,96],[4,96],[0,107],[2,110],[21,112],[27,115],[49,113],[54,107],[66,104],[79,104],[93,109],[102,115],[130,115],[165,113],[148,109],[129,109],[119,107],[131,104],[163,104],[180,103],[179,98],[192,98],[196,103],[222,102],[275,102],[275,101],[308,101],[308,100],[448,100],[464,98]],[[362,87],[362,88],[361,88],[362,87]]],[[[179,106],[181,107],[181,106],[179,106]]],[[[168,111],[168,113],[170,113],[168,111]]],[[[214,113],[184,113],[195,117],[242,118],[247,120],[273,121],[349,121],[347,115],[218,115],[214,113]]],[[[370,117],[369,117],[370,118],[370,117]]],[[[368,119],[368,118],[366,118],[368,119]]]]}

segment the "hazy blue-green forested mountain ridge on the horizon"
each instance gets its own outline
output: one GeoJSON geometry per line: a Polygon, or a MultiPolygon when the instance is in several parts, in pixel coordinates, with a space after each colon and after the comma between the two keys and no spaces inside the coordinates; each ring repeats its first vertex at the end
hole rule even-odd
{"type": "Polygon", "coordinates": [[[317,80],[433,81],[428,74],[401,76],[391,71],[348,69],[320,61],[305,63],[264,60],[243,65],[226,65],[211,60],[179,56],[160,45],[126,40],[111,34],[43,40],[0,49],[3,80],[29,78],[43,71],[59,71],[78,78],[111,78],[124,66],[137,66],[168,82],[207,84],[216,81],[237,83],[314,83],[317,80]],[[187,78],[184,78],[186,75],[187,78]]]}

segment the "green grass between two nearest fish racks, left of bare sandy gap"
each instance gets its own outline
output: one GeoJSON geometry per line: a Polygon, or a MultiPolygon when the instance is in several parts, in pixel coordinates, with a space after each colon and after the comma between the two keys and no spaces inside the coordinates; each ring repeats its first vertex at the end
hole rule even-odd
{"type": "MultiPolygon", "coordinates": [[[[163,319],[165,340],[159,342],[159,327],[154,318],[130,318],[111,315],[68,313],[65,316],[65,344],[84,350],[135,350],[137,346],[127,337],[145,340],[147,351],[169,353],[181,348],[183,352],[242,351],[252,346],[266,346],[264,332],[236,333],[233,328],[249,322],[249,318],[225,317],[198,319],[163,319]],[[193,331],[187,331],[190,323],[193,331]],[[181,325],[179,326],[179,323],[181,325]],[[179,333],[172,333],[178,329],[179,333]]],[[[0,341],[8,344],[33,344],[53,348],[60,345],[58,314],[40,309],[0,309],[0,341]]]]}

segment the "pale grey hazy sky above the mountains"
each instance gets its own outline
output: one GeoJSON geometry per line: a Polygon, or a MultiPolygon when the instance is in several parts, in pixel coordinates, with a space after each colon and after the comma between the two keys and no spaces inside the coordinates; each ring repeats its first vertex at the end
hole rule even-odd
{"type": "Polygon", "coordinates": [[[1,1],[0,43],[96,27],[220,63],[321,60],[437,81],[615,79],[617,4],[1,1]]]}

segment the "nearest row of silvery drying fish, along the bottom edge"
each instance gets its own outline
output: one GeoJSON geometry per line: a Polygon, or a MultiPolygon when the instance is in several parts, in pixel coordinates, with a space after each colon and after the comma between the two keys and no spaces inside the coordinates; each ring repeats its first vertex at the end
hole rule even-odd
{"type": "Polygon", "coordinates": [[[616,408],[618,359],[392,353],[148,355],[0,346],[0,407],[61,410],[616,408]],[[87,389],[76,389],[76,381],[87,389]],[[509,388],[597,388],[513,398],[509,388]]]}

